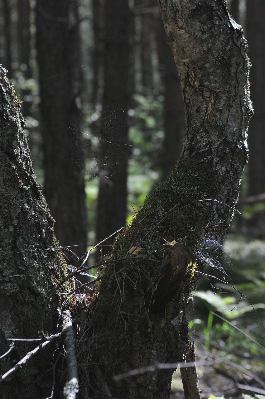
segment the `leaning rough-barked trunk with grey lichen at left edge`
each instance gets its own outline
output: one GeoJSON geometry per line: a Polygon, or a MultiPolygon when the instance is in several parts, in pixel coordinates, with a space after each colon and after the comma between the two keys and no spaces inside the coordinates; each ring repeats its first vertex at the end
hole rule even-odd
{"type": "MultiPolygon", "coordinates": [[[[36,182],[20,103],[0,67],[0,354],[7,338],[39,338],[40,315],[47,294],[63,277],[63,262],[53,233],[54,221],[36,182]]],[[[55,295],[46,310],[45,332],[57,332],[55,295]]],[[[8,371],[36,343],[16,344],[1,359],[0,373],[8,371]]],[[[30,361],[24,374],[1,384],[3,398],[45,397],[50,394],[51,355],[30,361]],[[48,371],[48,372],[47,372],[48,371]],[[37,376],[42,379],[36,382],[37,376]],[[18,396],[19,395],[19,396],[18,396]]]]}

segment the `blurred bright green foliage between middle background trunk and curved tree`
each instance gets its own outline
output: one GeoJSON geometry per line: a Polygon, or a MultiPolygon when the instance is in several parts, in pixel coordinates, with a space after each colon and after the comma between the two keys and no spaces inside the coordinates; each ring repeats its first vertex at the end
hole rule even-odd
{"type": "Polygon", "coordinates": [[[163,97],[134,95],[135,108],[129,110],[131,122],[129,140],[133,145],[129,160],[128,177],[128,222],[134,211],[143,204],[154,184],[161,177],[163,97]]]}

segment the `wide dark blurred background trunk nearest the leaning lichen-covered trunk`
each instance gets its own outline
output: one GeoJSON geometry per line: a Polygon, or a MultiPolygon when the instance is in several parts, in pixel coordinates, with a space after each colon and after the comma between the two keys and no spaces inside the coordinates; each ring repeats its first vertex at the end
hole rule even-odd
{"type": "Polygon", "coordinates": [[[37,0],[36,40],[44,140],[44,194],[63,246],[86,250],[80,100],[80,48],[75,0],[37,0]]]}

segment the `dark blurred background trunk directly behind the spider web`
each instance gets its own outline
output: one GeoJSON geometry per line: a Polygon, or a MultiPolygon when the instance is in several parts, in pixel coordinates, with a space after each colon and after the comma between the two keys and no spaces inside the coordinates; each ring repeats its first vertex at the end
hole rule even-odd
{"type": "MultiPolygon", "coordinates": [[[[128,81],[131,10],[126,0],[105,2],[105,64],[97,242],[123,227],[127,217],[128,81]]],[[[105,241],[107,253],[113,237],[105,241]]]]}

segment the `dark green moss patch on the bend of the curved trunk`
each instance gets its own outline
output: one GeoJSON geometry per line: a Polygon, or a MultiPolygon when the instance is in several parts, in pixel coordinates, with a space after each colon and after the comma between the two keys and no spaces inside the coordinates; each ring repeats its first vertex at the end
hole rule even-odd
{"type": "Polygon", "coordinates": [[[127,232],[117,237],[112,250],[113,259],[121,259],[131,247],[139,246],[142,248],[141,256],[148,257],[148,261],[141,262],[141,258],[135,261],[137,258],[131,256],[128,261],[117,261],[105,267],[100,288],[101,292],[107,290],[107,298],[104,295],[100,297],[107,315],[109,311],[117,311],[118,305],[113,309],[113,303],[116,296],[121,296],[121,287],[126,287],[127,296],[135,296],[137,282],[137,293],[146,292],[156,265],[164,257],[163,238],[182,242],[186,236],[187,245],[196,249],[207,218],[203,202],[198,201],[211,198],[215,184],[209,170],[201,160],[189,158],[183,162],[169,178],[155,187],[127,232]]]}

